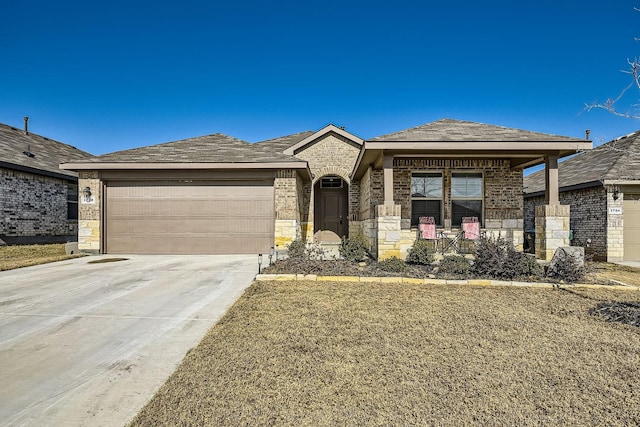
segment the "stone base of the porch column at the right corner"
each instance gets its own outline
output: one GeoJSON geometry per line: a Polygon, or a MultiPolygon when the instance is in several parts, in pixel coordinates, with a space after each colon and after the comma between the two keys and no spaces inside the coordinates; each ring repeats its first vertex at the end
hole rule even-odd
{"type": "Polygon", "coordinates": [[[551,261],[556,249],[570,246],[569,205],[536,206],[536,258],[551,261]]]}

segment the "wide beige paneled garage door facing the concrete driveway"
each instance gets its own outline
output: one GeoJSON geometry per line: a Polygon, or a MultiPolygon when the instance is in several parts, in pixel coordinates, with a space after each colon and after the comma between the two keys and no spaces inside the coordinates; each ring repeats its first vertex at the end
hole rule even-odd
{"type": "Polygon", "coordinates": [[[258,254],[273,246],[271,182],[111,182],[106,253],[258,254]]]}

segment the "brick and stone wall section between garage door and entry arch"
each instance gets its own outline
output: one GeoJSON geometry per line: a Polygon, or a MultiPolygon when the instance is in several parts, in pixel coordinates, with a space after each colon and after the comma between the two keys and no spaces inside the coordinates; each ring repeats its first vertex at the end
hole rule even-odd
{"type": "Polygon", "coordinates": [[[276,173],[273,183],[276,204],[275,241],[277,249],[284,249],[302,237],[300,199],[303,197],[301,178],[293,169],[276,173]]]}

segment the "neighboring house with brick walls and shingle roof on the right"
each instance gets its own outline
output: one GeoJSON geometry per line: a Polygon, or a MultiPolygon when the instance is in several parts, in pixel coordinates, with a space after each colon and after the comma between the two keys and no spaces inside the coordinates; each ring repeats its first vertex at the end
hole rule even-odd
{"type": "MultiPolygon", "coordinates": [[[[571,205],[572,244],[598,260],[640,260],[640,132],[580,153],[558,166],[561,203],[571,205]]],[[[544,173],[524,179],[525,230],[544,204],[544,173]]]]}

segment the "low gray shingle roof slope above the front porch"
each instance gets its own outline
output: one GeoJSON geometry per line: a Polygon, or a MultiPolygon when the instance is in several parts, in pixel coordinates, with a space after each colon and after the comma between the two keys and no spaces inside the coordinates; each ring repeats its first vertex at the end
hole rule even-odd
{"type": "Polygon", "coordinates": [[[453,119],[440,119],[435,122],[416,126],[369,139],[369,141],[434,141],[434,142],[569,142],[583,139],[570,138],[527,130],[513,129],[484,123],[467,122],[453,119]]]}

